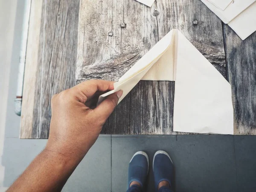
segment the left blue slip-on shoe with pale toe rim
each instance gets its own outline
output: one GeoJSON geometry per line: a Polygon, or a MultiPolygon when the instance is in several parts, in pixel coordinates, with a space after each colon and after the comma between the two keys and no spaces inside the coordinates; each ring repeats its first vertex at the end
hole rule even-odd
{"type": "Polygon", "coordinates": [[[132,181],[140,183],[144,187],[148,175],[149,161],[148,155],[143,151],[138,151],[131,158],[128,168],[128,189],[132,181]]]}

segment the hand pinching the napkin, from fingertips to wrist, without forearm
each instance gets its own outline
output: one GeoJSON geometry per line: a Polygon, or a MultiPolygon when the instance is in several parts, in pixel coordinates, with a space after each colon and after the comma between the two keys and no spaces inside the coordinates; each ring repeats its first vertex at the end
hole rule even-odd
{"type": "Polygon", "coordinates": [[[52,96],[52,119],[45,150],[80,162],[99,137],[122,90],[109,95],[96,108],[90,108],[94,97],[113,88],[112,81],[90,80],[52,96]]]}

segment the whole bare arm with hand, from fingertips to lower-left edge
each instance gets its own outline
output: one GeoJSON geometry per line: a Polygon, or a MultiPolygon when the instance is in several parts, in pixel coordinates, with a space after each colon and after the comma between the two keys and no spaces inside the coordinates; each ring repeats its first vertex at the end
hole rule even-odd
{"type": "Polygon", "coordinates": [[[107,96],[96,108],[90,108],[88,103],[99,97],[98,93],[113,89],[111,81],[91,80],[52,96],[47,146],[8,191],[61,191],[99,137],[122,90],[107,96]]]}

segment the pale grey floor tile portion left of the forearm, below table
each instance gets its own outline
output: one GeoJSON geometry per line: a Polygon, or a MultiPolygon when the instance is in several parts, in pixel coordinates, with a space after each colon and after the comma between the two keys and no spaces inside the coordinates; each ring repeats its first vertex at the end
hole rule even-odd
{"type": "Polygon", "coordinates": [[[47,140],[20,140],[6,138],[2,156],[5,167],[3,186],[10,186],[13,181],[26,169],[35,156],[42,151],[47,140]]]}

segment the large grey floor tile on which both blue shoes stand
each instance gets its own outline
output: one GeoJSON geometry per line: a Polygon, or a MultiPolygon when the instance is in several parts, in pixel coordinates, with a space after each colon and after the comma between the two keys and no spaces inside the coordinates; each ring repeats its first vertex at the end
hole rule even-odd
{"type": "MultiPolygon", "coordinates": [[[[233,136],[187,135],[112,137],[113,192],[125,191],[128,163],[140,150],[148,153],[151,163],[157,150],[170,154],[175,166],[176,192],[237,191],[233,136]]],[[[147,191],[154,191],[151,169],[147,191]]]]}

